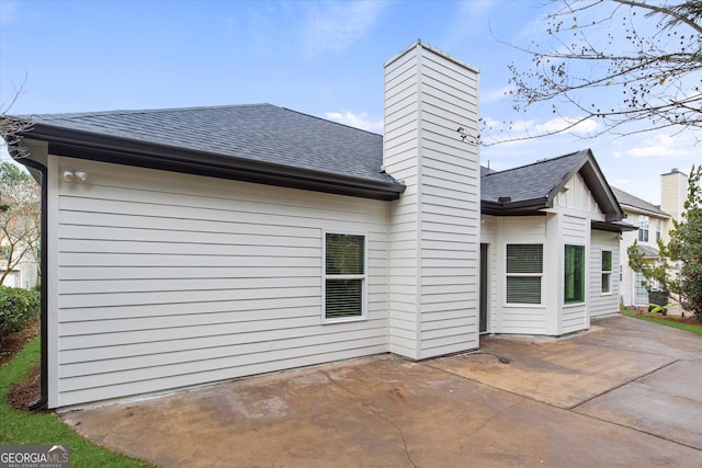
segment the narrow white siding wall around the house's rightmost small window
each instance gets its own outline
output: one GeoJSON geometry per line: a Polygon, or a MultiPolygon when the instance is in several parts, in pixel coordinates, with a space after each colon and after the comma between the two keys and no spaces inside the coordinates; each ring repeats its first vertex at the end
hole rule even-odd
{"type": "Polygon", "coordinates": [[[590,317],[605,316],[619,311],[619,233],[592,231],[590,241],[590,293],[588,306],[590,317]],[[610,293],[602,293],[602,251],[612,252],[610,293]],[[600,266],[598,269],[598,265],[600,266]]]}

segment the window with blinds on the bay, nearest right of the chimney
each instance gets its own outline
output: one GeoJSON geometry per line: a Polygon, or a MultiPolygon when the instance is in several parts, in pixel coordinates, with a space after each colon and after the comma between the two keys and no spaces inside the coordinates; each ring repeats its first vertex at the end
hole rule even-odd
{"type": "Polygon", "coordinates": [[[543,256],[541,243],[507,246],[508,304],[541,304],[543,256]]]}

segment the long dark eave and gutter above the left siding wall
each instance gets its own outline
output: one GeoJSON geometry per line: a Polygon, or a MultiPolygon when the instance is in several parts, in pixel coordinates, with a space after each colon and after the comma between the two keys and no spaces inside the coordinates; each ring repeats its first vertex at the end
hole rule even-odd
{"type": "Polygon", "coordinates": [[[382,182],[283,164],[222,156],[120,137],[34,124],[21,136],[48,144],[49,153],[267,185],[381,201],[398,199],[399,182],[382,182]]]}

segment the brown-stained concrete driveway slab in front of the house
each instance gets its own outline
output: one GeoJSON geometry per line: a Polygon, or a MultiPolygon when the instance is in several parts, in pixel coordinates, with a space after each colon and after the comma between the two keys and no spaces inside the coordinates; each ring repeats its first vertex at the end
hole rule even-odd
{"type": "Polygon", "coordinates": [[[165,467],[700,467],[702,336],[627,317],[566,339],[380,355],[73,411],[165,467]]]}

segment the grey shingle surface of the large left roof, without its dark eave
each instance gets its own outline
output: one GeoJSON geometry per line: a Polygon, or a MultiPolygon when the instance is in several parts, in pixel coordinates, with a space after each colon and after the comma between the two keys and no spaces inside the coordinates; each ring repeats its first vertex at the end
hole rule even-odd
{"type": "Polygon", "coordinates": [[[33,115],[35,124],[394,182],[383,137],[271,104],[33,115]]]}

